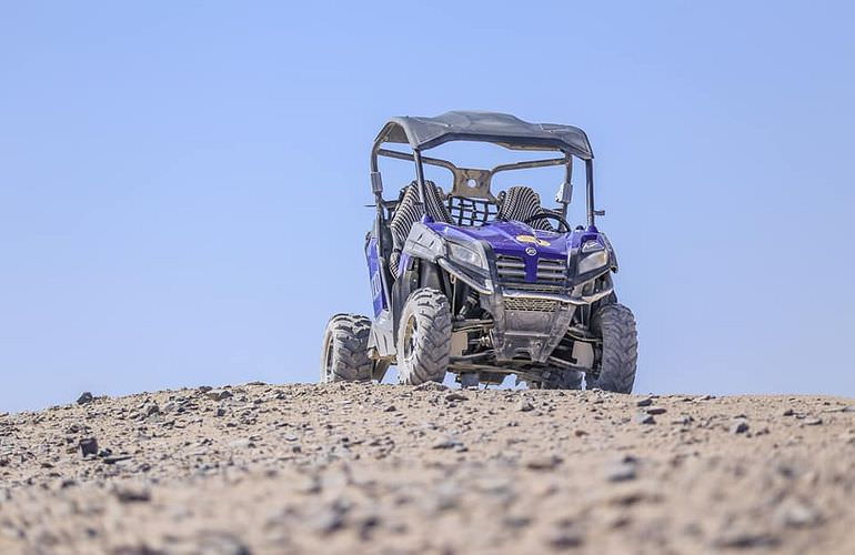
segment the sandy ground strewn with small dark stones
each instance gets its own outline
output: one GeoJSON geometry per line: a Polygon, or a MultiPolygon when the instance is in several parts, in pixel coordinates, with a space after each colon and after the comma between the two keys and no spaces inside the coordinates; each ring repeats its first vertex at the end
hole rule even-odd
{"type": "Polygon", "coordinates": [[[248,384],[81,401],[0,416],[0,553],[855,553],[847,398],[248,384]]]}

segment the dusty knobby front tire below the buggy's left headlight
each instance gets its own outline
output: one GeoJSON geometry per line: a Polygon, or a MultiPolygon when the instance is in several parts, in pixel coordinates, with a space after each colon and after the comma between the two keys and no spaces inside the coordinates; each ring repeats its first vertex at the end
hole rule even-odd
{"type": "Polygon", "coordinates": [[[398,331],[398,381],[442,382],[451,352],[451,310],[445,295],[420,289],[410,295],[398,331]]]}

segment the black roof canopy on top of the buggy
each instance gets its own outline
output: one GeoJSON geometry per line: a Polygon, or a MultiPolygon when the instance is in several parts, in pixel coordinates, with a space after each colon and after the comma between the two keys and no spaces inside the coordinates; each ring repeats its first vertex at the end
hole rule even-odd
{"type": "Polygon", "coordinates": [[[594,158],[584,131],[573,125],[529,123],[497,112],[446,112],[436,118],[404,115],[383,125],[374,142],[410,144],[428,150],[449,141],[484,141],[514,150],[560,150],[583,160],[594,158]]]}

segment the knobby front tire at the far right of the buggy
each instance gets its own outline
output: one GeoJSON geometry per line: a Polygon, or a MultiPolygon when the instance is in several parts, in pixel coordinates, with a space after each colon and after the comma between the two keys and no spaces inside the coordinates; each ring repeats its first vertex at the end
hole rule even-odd
{"type": "Polygon", "coordinates": [[[623,304],[605,304],[591,319],[591,329],[603,337],[603,356],[600,375],[589,380],[589,389],[632,393],[638,360],[635,316],[623,304]]]}

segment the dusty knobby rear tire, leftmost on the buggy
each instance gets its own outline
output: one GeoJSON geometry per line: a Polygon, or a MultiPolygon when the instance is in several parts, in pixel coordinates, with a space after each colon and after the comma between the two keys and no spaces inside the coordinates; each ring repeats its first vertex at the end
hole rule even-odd
{"type": "Polygon", "coordinates": [[[366,382],[374,363],[368,356],[371,321],[359,314],[335,314],[326,324],[321,350],[321,383],[366,382]]]}

